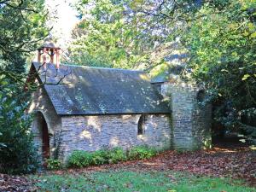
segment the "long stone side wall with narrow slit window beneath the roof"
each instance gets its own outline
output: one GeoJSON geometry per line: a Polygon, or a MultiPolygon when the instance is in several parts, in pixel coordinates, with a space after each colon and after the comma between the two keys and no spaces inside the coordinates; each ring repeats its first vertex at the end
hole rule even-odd
{"type": "Polygon", "coordinates": [[[146,115],[144,133],[137,135],[140,114],[62,116],[61,159],[74,149],[131,148],[147,144],[160,149],[171,147],[169,115],[146,115]]]}

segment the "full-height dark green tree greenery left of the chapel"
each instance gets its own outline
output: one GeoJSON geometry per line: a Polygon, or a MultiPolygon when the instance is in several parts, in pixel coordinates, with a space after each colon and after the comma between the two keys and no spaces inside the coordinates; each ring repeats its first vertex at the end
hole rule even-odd
{"type": "Polygon", "coordinates": [[[24,85],[26,59],[49,31],[44,1],[0,1],[0,20],[0,172],[33,172],[37,154],[24,85]]]}

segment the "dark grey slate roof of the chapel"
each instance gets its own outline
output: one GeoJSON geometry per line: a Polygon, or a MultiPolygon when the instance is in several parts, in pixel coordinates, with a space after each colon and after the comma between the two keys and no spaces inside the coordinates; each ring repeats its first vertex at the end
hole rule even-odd
{"type": "Polygon", "coordinates": [[[37,62],[32,67],[60,115],[170,113],[168,103],[142,71],[37,62]],[[63,77],[65,78],[63,79],[63,77]],[[61,79],[61,84],[57,84],[61,79]]]}

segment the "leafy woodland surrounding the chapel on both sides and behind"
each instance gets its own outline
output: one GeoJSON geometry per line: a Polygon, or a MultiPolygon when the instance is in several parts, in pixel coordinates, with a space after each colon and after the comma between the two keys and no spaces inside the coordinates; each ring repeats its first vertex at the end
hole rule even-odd
{"type": "MultiPolygon", "coordinates": [[[[206,87],[201,104],[212,102],[214,125],[255,143],[254,0],[79,0],[72,6],[80,21],[63,62],[143,69],[152,77],[179,66],[184,81],[206,87]],[[183,59],[173,62],[172,55],[183,59]]],[[[59,38],[51,34],[51,19],[43,0],[0,0],[0,172],[36,169],[32,117],[24,113],[32,90],[24,86],[33,51],[46,38],[59,38]]]]}

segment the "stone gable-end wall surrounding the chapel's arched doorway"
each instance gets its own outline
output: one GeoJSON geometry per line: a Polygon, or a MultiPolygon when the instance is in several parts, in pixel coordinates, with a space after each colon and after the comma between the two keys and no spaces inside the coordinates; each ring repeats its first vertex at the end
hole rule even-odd
{"type": "Polygon", "coordinates": [[[34,113],[32,122],[32,132],[34,134],[34,143],[38,148],[38,153],[42,154],[42,119],[38,113],[43,113],[49,132],[49,156],[56,156],[56,149],[59,145],[59,136],[61,133],[61,117],[55,112],[55,108],[49,100],[44,88],[39,88],[32,95],[29,113],[34,113]]]}

